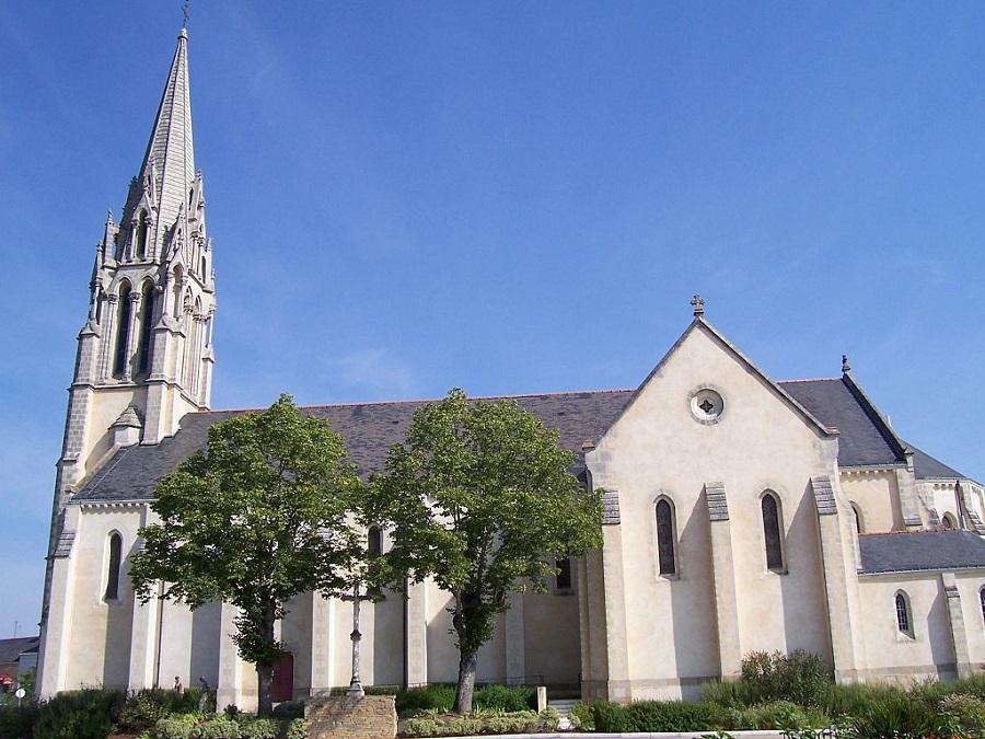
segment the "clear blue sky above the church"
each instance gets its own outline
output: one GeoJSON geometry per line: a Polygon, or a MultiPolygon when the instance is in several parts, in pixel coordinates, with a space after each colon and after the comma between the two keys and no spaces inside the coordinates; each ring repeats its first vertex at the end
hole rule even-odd
{"type": "MultiPolygon", "coordinates": [[[[0,0],[0,636],[179,4],[0,0]]],[[[215,407],[633,388],[699,291],[985,480],[985,3],[192,5],[215,407]]]]}

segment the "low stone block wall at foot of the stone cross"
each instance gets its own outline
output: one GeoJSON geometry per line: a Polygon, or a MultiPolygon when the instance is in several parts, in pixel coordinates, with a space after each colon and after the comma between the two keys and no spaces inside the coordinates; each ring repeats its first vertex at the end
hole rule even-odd
{"type": "Polygon", "coordinates": [[[309,739],[394,739],[393,695],[324,696],[304,706],[309,739]]]}

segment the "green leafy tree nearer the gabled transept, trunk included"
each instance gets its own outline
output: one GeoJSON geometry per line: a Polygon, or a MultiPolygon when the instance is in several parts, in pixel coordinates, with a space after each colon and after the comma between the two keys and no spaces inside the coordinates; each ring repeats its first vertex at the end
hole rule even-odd
{"type": "Polygon", "coordinates": [[[510,592],[544,591],[552,555],[602,545],[600,495],[568,472],[572,462],[557,432],[517,403],[452,390],[414,414],[373,480],[367,516],[391,530],[393,547],[370,577],[431,577],[452,596],[457,713],[472,711],[476,656],[510,592]]]}

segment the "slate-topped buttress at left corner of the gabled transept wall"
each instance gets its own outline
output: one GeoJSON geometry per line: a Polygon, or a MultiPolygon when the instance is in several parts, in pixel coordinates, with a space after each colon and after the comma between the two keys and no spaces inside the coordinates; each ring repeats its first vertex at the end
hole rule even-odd
{"type": "Polygon", "coordinates": [[[602,494],[602,575],[605,587],[605,646],[609,657],[607,697],[629,703],[629,651],[626,633],[626,580],[623,575],[623,529],[618,490],[602,494]]]}

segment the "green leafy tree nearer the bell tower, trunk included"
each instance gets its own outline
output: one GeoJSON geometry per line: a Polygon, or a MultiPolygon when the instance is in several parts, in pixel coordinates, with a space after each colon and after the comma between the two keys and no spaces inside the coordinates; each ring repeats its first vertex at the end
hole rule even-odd
{"type": "Polygon", "coordinates": [[[290,395],[263,413],[209,429],[208,446],[158,484],[160,517],[140,530],[130,578],[143,602],[163,597],[195,609],[237,608],[234,640],[256,666],[259,711],[273,708],[274,624],[287,601],[312,590],[347,591],[364,559],[354,523],[361,484],[341,437],[302,415],[290,395]]]}

